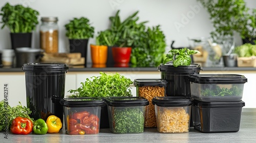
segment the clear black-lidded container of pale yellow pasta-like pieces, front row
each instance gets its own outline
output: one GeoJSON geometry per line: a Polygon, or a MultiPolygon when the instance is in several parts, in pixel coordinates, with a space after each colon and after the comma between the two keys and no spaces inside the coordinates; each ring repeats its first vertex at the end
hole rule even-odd
{"type": "Polygon", "coordinates": [[[184,133],[189,131],[191,97],[155,97],[157,131],[160,133],[184,133]]]}

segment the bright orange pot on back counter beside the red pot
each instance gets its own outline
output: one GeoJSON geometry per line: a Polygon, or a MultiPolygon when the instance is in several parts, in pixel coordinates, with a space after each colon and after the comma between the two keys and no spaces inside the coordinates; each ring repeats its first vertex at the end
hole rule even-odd
{"type": "Polygon", "coordinates": [[[91,58],[94,65],[104,65],[108,57],[108,46],[106,45],[90,45],[91,58]]]}

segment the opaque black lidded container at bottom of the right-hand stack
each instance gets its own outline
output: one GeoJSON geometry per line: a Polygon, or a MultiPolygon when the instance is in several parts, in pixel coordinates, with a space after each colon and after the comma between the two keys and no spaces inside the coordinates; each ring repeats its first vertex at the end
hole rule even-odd
{"type": "Polygon", "coordinates": [[[194,129],[203,133],[238,132],[243,101],[201,102],[192,106],[194,129]]]}

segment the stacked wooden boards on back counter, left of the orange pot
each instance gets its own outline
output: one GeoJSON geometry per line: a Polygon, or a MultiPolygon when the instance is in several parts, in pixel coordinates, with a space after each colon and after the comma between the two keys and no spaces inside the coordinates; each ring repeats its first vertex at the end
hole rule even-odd
{"type": "Polygon", "coordinates": [[[41,62],[57,62],[66,63],[68,65],[83,65],[85,63],[85,58],[81,57],[81,53],[44,53],[41,58],[41,62]]]}

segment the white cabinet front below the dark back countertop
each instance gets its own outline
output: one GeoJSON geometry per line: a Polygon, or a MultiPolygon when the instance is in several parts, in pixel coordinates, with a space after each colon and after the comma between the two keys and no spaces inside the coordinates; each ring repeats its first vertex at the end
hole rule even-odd
{"type": "MultiPolygon", "coordinates": [[[[106,71],[106,73],[109,73],[106,71]]],[[[116,71],[110,73],[115,74],[116,71]]],[[[161,78],[160,71],[118,71],[118,73],[132,81],[135,79],[161,78]]],[[[201,71],[200,74],[239,74],[244,75],[248,82],[244,84],[243,101],[245,102],[244,108],[256,108],[256,93],[254,91],[256,85],[256,72],[255,71],[201,71]]],[[[76,89],[81,86],[81,82],[86,81],[87,78],[92,76],[99,76],[98,71],[68,71],[66,74],[65,83],[65,96],[70,94],[68,90],[76,89]]],[[[13,73],[0,73],[0,100],[4,99],[4,84],[8,84],[8,102],[10,106],[18,105],[20,101],[22,105],[26,106],[26,85],[25,74],[22,72],[13,73]]],[[[136,88],[132,87],[132,94],[136,96],[136,88]]]]}

